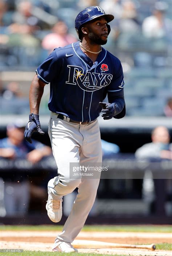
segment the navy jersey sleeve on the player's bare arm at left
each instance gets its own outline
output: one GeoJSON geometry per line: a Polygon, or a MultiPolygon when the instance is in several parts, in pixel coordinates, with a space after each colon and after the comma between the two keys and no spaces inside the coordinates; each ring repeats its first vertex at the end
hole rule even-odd
{"type": "Polygon", "coordinates": [[[57,75],[57,70],[60,69],[60,60],[57,59],[56,50],[46,58],[46,60],[36,69],[38,78],[49,84],[57,75]]]}

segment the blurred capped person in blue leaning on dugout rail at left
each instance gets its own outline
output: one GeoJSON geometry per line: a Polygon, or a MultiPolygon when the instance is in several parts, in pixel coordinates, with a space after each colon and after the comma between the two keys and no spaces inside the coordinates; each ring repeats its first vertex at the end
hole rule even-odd
{"type": "MultiPolygon", "coordinates": [[[[7,126],[8,137],[0,140],[0,157],[7,159],[26,158],[35,164],[42,157],[52,154],[50,147],[38,141],[32,140],[32,144],[26,142],[23,132],[22,120],[16,120],[15,123],[7,126]]],[[[4,203],[7,215],[23,215],[28,210],[30,197],[30,184],[26,173],[7,175],[4,181],[4,203]]],[[[34,186],[31,188],[35,189],[34,186]]],[[[36,191],[38,193],[40,189],[36,188],[36,191]]],[[[31,192],[33,194],[33,191],[31,192]]],[[[42,190],[41,193],[43,195],[42,190]]]]}

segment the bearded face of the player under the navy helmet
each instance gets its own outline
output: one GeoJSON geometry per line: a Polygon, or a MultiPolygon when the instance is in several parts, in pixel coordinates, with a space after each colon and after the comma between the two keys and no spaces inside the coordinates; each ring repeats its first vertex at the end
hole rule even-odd
{"type": "Polygon", "coordinates": [[[88,37],[93,43],[100,45],[107,43],[107,21],[104,17],[89,21],[86,24],[86,28],[88,30],[88,37]]]}

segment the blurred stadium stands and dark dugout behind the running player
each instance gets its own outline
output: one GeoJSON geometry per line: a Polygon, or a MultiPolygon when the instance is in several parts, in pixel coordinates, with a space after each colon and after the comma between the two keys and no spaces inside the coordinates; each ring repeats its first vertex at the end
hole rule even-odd
{"type": "MultiPolygon", "coordinates": [[[[135,163],[136,149],[151,142],[153,128],[164,125],[172,134],[171,0],[0,0],[0,139],[7,136],[7,125],[17,118],[27,123],[29,86],[37,66],[54,47],[78,40],[75,17],[90,5],[99,5],[115,16],[105,48],[122,62],[127,113],[122,120],[105,122],[100,118],[99,124],[102,139],[120,148],[118,155],[108,156],[109,161],[120,159],[121,172],[128,170],[129,176],[101,180],[87,223],[170,224],[171,180],[143,182],[143,178],[135,178],[129,166],[135,163]],[[160,23],[157,27],[155,19],[160,23]]],[[[50,145],[48,100],[49,85],[45,87],[40,107],[41,126],[46,133],[33,136],[46,145],[50,145]]],[[[46,165],[50,162],[51,158],[33,165],[22,159],[0,158],[0,223],[50,224],[45,191],[47,181],[56,176],[56,166],[46,165]],[[4,211],[3,180],[23,173],[27,173],[33,184],[28,209],[22,214],[8,215],[4,211]]],[[[64,200],[68,206],[64,208],[66,216],[72,200],[73,195],[64,200]]]]}

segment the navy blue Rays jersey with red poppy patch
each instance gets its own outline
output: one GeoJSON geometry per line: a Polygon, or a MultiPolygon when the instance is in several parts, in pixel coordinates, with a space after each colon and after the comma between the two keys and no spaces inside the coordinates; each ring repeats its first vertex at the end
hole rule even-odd
{"type": "Polygon", "coordinates": [[[93,63],[79,41],[54,49],[36,73],[41,81],[50,83],[49,110],[74,121],[95,120],[102,110],[99,102],[106,95],[124,95],[120,60],[102,48],[93,63]]]}

